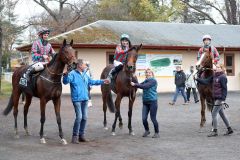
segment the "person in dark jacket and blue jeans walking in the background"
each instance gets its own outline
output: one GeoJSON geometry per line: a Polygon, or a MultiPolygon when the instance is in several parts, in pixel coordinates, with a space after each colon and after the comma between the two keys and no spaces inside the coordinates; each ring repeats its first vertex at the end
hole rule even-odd
{"type": "Polygon", "coordinates": [[[181,69],[181,66],[176,67],[176,73],[175,73],[175,85],[176,85],[176,91],[173,97],[172,102],[170,102],[170,105],[174,105],[177,101],[177,96],[179,92],[181,92],[183,98],[184,98],[184,103],[183,105],[187,105],[187,96],[185,93],[185,81],[186,81],[186,75],[181,69]]]}

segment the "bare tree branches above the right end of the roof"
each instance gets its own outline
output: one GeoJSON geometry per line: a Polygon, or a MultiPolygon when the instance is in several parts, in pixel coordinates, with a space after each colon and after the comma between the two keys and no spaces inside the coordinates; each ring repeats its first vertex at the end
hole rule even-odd
{"type": "Polygon", "coordinates": [[[237,25],[240,24],[239,1],[236,0],[180,0],[185,4],[183,13],[185,21],[204,23],[210,21],[213,24],[226,23],[237,25]],[[218,22],[212,16],[215,10],[221,16],[222,21],[218,22]]]}

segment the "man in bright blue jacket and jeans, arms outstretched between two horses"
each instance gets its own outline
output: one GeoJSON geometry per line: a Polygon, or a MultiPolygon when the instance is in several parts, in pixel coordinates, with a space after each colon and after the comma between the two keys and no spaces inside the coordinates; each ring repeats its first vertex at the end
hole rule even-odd
{"type": "Polygon", "coordinates": [[[65,72],[63,83],[70,83],[71,98],[75,109],[76,119],[73,125],[72,143],[86,142],[84,130],[87,123],[88,111],[88,86],[109,83],[108,80],[92,80],[85,72],[86,63],[78,60],[77,68],[71,72],[65,72]]]}

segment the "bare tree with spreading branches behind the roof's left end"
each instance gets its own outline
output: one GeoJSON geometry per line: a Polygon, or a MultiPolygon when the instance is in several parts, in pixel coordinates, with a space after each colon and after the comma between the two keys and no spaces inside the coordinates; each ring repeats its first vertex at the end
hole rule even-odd
{"type": "MultiPolygon", "coordinates": [[[[56,33],[63,33],[69,30],[79,20],[87,18],[90,6],[95,4],[95,0],[83,0],[78,3],[68,2],[68,0],[33,0],[39,6],[44,8],[47,14],[41,14],[40,18],[33,17],[29,24],[34,25],[49,25],[49,15],[52,18],[51,22],[56,33]],[[58,9],[51,9],[48,2],[54,1],[58,3],[58,9]],[[39,21],[40,20],[40,21],[39,21]],[[48,21],[48,22],[46,22],[48,21]],[[36,23],[37,22],[37,23],[36,23]]],[[[51,27],[51,26],[50,26],[51,27]]]]}

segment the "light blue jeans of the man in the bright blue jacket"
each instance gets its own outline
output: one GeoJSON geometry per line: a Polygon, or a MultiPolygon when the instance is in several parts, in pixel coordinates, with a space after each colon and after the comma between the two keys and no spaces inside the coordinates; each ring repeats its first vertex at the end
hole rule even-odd
{"type": "Polygon", "coordinates": [[[88,101],[73,102],[76,118],[73,125],[73,136],[83,136],[87,123],[88,101]]]}

